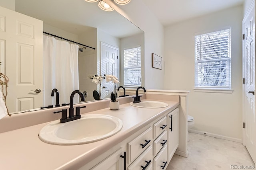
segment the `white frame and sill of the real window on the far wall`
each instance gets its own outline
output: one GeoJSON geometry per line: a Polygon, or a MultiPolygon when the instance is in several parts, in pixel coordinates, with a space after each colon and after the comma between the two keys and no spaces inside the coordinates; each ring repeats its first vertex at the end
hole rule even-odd
{"type": "MultiPolygon", "coordinates": [[[[201,41],[201,39],[200,39],[201,41]]],[[[201,42],[200,43],[200,47],[202,45],[201,42]]],[[[213,32],[209,32],[209,33],[204,33],[204,34],[198,34],[198,35],[195,35],[195,71],[194,71],[194,90],[196,92],[220,92],[220,93],[232,93],[233,90],[231,90],[231,29],[228,28],[228,29],[222,29],[222,30],[219,30],[219,31],[213,31],[213,32]],[[201,58],[201,49],[200,49],[200,52],[197,53],[197,44],[196,44],[196,38],[198,38],[198,36],[206,36],[206,35],[211,35],[211,34],[214,34],[214,33],[217,33],[217,32],[221,32],[221,31],[229,31],[229,39],[228,39],[228,57],[224,57],[224,58],[217,58],[217,57],[214,57],[214,58],[211,58],[209,57],[207,59],[207,57],[205,55],[202,55],[202,58],[201,58]],[[198,59],[198,57],[200,59],[198,59]],[[226,61],[226,64],[227,64],[227,73],[229,75],[227,75],[229,77],[229,79],[226,81],[228,82],[227,86],[200,86],[198,84],[199,80],[198,80],[198,75],[199,75],[199,72],[198,72],[198,64],[200,63],[207,63],[207,62],[214,62],[214,61],[221,61],[221,62],[225,62],[226,61]]]]}

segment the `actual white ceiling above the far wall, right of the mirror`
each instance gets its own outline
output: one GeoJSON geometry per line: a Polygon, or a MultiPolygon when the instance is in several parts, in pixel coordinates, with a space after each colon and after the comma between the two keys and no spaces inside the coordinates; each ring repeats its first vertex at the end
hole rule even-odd
{"type": "Polygon", "coordinates": [[[158,20],[170,25],[244,3],[244,0],[142,0],[158,20]]]}

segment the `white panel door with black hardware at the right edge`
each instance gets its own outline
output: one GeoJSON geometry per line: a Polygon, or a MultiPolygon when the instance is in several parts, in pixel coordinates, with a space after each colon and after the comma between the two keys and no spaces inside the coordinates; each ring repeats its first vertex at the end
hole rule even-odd
{"type": "Polygon", "coordinates": [[[255,119],[255,12],[254,5],[243,20],[243,68],[244,68],[244,121],[243,144],[256,162],[256,119],[255,119]]]}

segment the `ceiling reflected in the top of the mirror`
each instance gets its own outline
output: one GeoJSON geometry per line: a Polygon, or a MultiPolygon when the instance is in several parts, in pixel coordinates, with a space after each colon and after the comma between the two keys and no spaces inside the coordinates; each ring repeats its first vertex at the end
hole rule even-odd
{"type": "Polygon", "coordinates": [[[118,12],[84,0],[15,0],[15,11],[76,35],[92,27],[118,38],[142,33],[118,12]]]}

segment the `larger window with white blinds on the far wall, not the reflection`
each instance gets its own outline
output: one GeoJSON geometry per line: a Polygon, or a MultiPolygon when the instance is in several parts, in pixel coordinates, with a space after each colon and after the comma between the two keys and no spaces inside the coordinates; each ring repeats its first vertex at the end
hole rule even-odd
{"type": "Polygon", "coordinates": [[[195,88],[231,88],[230,29],[195,36],[195,88]]]}

